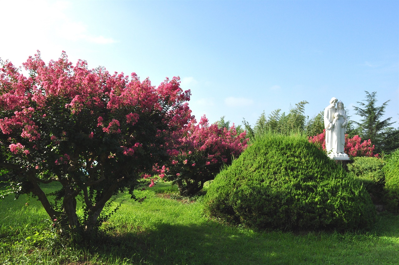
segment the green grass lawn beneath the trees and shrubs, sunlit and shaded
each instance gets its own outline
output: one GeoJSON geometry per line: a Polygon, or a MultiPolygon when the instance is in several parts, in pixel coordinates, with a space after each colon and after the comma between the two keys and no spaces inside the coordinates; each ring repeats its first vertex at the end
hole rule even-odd
{"type": "Polygon", "coordinates": [[[177,194],[168,183],[137,192],[142,204],[120,194],[105,238],[85,247],[54,238],[40,202],[6,197],[0,264],[398,264],[399,216],[379,215],[367,233],[255,231],[209,219],[200,196],[177,194]]]}

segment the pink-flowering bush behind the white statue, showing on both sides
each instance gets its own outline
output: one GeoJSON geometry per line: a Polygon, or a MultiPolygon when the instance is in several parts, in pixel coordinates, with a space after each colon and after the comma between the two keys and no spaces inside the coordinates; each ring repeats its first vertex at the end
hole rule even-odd
{"type": "MultiPolygon", "coordinates": [[[[326,150],[326,130],[322,133],[310,136],[309,142],[313,142],[318,145],[320,149],[326,150]]],[[[344,150],[348,156],[374,156],[378,157],[378,154],[374,154],[374,144],[371,144],[371,140],[362,141],[359,135],[349,138],[348,134],[345,134],[345,146],[344,150]]]]}

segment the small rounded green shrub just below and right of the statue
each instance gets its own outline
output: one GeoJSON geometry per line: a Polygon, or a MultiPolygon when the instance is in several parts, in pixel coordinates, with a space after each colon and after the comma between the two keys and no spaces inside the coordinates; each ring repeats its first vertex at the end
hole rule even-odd
{"type": "Polygon", "coordinates": [[[373,202],[381,203],[385,191],[384,160],[376,157],[355,157],[348,170],[355,176],[369,192],[373,202]]]}

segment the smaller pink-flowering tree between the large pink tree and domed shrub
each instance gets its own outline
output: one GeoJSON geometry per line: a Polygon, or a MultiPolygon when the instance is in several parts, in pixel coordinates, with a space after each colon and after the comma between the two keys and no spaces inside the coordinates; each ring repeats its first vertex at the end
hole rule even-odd
{"type": "Polygon", "coordinates": [[[229,129],[219,129],[217,123],[209,125],[205,115],[198,124],[192,120],[175,134],[174,146],[168,150],[169,163],[160,176],[177,184],[181,195],[192,196],[243,152],[248,140],[245,135],[238,134],[234,125],[229,129]]]}

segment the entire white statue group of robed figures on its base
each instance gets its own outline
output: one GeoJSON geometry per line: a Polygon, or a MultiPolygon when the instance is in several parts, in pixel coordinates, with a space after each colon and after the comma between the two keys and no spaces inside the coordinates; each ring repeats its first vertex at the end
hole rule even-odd
{"type": "Polygon", "coordinates": [[[348,125],[344,103],[333,97],[330,105],[324,110],[324,128],[326,129],[326,150],[330,158],[335,160],[348,160],[344,152],[345,133],[348,125]]]}

